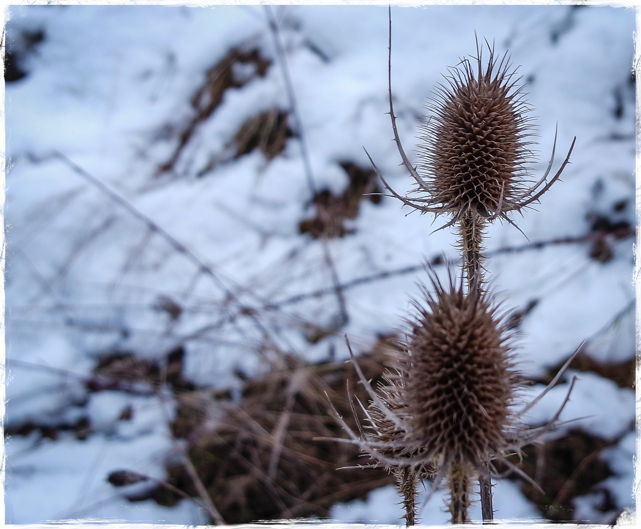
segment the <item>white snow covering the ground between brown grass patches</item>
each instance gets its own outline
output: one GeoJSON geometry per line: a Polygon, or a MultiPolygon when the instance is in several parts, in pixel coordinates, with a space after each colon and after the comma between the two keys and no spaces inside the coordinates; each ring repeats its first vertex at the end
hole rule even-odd
{"type": "MultiPolygon", "coordinates": [[[[339,162],[369,168],[365,146],[395,190],[410,190],[385,115],[387,7],[274,6],[272,13],[315,187],[342,192],[347,178],[339,162]]],[[[162,477],[172,443],[155,396],[104,391],[87,398],[83,380],[97,356],[123,350],[160,358],[183,345],[186,376],[212,387],[238,383],[235,370],[260,373],[256,350],[266,342],[310,361],[347,358],[344,333],[356,351],[365,351],[378,336],[403,328],[416,281],[427,280],[420,265],[442,254],[456,258],[454,236],[447,229],[431,233],[439,224],[429,215],[406,216],[408,209],[395,199],[384,197],[378,205],[364,199],[349,226],[353,233],[328,242],[335,274],[346,285],[349,320],[310,344],[308,323],[330,325],[339,306],[321,242],[298,231],[314,214],[300,140],[290,138],[269,162],[254,150],[197,176],[248,118],[274,106],[290,108],[265,8],[12,6],[9,15],[10,42],[38,29],[44,40],[25,55],[28,74],[6,84],[5,424],[88,417],[94,432],[82,441],[72,432],[56,441],[36,432],[6,439],[6,522],[204,523],[190,502],[176,508],[129,503],[106,482],[122,468],[162,477]],[[189,100],[208,69],[247,42],[272,60],[266,75],[227,90],[175,171],[155,176],[176,148],[176,135],[167,131],[179,130],[193,114],[189,100]],[[215,278],[56,153],[152,219],[212,267],[215,278]],[[415,268],[395,273],[406,267],[415,268]],[[392,274],[377,276],[385,272],[392,274]],[[355,281],[361,278],[369,279],[355,281]],[[157,309],[162,296],[183,307],[177,321],[157,309]],[[132,420],[117,421],[128,405],[132,420]]],[[[536,210],[512,217],[529,241],[587,235],[594,215],[634,225],[632,10],[428,6],[392,8],[392,23],[395,112],[410,157],[426,100],[447,66],[476,52],[476,32],[520,65],[540,134],[533,177],[545,171],[557,124],[552,174],[577,137],[563,181],[536,210]]],[[[632,239],[608,239],[613,256],[599,262],[590,258],[589,241],[532,248],[513,226],[490,228],[492,288],[513,310],[538,302],[520,325],[526,376],[543,376],[582,340],[583,354],[600,362],[634,357],[632,239]],[[505,251],[512,247],[528,248],[505,251]]],[[[617,508],[629,507],[634,392],[594,373],[578,377],[561,419],[584,417],[565,428],[614,442],[602,455],[614,475],[599,486],[617,508]]],[[[531,424],[553,416],[569,376],[563,380],[528,414],[531,424]]],[[[524,394],[530,398],[540,389],[524,394]]],[[[602,498],[595,491],[575,500],[576,519],[606,519],[608,513],[595,507],[602,498]]],[[[388,487],[365,502],[336,505],[331,517],[399,523],[396,502],[388,487]]],[[[541,516],[517,482],[499,483],[494,503],[499,519],[541,516]]],[[[439,492],[424,523],[445,523],[442,505],[439,492]]]]}

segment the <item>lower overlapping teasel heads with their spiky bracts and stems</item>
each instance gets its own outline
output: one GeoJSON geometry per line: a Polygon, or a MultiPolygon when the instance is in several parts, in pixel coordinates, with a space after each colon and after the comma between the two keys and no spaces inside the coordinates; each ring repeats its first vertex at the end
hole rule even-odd
{"type": "Polygon", "coordinates": [[[452,523],[469,521],[472,484],[499,476],[495,460],[540,490],[507,457],[558,426],[574,385],[573,379],[549,423],[538,428],[520,423],[558,382],[580,346],[545,390],[517,411],[514,333],[501,323],[500,305],[478,281],[469,289],[463,278],[454,283],[450,276],[444,287],[431,274],[432,288],[422,287],[422,299],[413,301],[411,333],[404,350],[394,353],[387,383],[373,389],[352,356],[371,399],[368,408],[361,405],[367,428],[359,426],[355,433],[331,407],[351,442],[374,460],[369,467],[394,473],[408,526],[415,521],[417,483],[424,478],[433,478],[424,502],[445,480],[452,523]]]}

